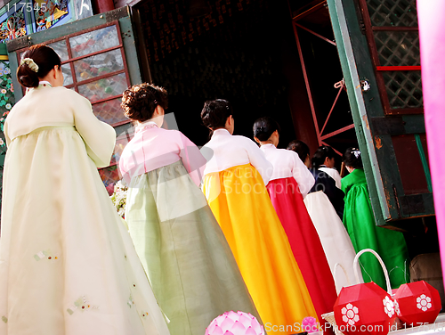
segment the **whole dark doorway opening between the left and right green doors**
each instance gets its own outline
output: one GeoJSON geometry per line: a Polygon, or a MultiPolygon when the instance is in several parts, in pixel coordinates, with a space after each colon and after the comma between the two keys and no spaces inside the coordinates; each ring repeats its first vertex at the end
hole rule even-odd
{"type": "MultiPolygon", "coordinates": [[[[255,119],[271,116],[282,128],[279,147],[286,148],[295,138],[308,143],[312,152],[319,146],[292,26],[292,15],[304,8],[293,7],[283,0],[138,4],[151,80],[166,87],[168,111],[174,112],[179,129],[194,143],[208,140],[199,118],[204,102],[222,98],[234,107],[236,135],[253,138],[255,119]]],[[[312,13],[304,23],[332,36],[327,11],[312,13]]],[[[338,92],[334,84],[343,78],[336,46],[305,31],[300,42],[316,118],[323,125],[338,92]]],[[[352,124],[346,94],[338,99],[337,110],[342,116],[331,117],[325,133],[352,124]]],[[[344,151],[356,143],[354,130],[327,143],[344,151]]]]}

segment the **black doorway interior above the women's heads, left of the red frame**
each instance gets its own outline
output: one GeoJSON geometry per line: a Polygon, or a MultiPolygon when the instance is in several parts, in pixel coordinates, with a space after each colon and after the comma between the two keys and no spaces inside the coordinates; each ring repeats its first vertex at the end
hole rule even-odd
{"type": "Polygon", "coordinates": [[[200,110],[222,98],[235,110],[236,135],[253,138],[255,119],[271,116],[286,147],[295,139],[282,56],[283,44],[295,45],[287,3],[223,0],[190,17],[196,3],[151,0],[139,7],[152,81],[168,90],[179,129],[205,144],[200,110]]]}

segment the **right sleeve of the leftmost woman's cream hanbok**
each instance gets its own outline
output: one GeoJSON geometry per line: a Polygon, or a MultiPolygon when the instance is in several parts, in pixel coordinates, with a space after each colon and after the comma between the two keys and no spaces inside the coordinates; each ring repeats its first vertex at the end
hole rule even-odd
{"type": "Polygon", "coordinates": [[[113,127],[93,114],[91,103],[80,94],[73,94],[74,125],[85,142],[86,153],[96,167],[108,167],[116,143],[113,127]]]}

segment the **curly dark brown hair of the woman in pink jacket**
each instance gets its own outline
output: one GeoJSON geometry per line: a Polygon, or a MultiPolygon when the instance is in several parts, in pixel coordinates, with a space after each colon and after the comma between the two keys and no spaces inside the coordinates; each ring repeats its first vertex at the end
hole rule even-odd
{"type": "Polygon", "coordinates": [[[168,108],[166,89],[147,83],[126,89],[120,104],[125,117],[139,122],[152,118],[157,106],[161,106],[164,110],[168,108]]]}

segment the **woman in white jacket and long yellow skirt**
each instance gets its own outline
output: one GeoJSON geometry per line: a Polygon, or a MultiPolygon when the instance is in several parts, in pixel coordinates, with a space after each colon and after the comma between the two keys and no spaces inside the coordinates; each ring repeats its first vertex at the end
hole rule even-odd
{"type": "Polygon", "coordinates": [[[268,334],[293,334],[286,325],[317,316],[286,233],[265,188],[271,163],[252,140],[233,135],[231,103],[204,104],[201,119],[212,138],[203,192],[223,229],[268,334]],[[286,328],[283,331],[283,328],[286,328]]]}

